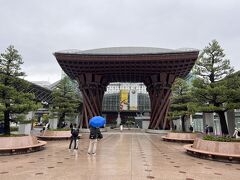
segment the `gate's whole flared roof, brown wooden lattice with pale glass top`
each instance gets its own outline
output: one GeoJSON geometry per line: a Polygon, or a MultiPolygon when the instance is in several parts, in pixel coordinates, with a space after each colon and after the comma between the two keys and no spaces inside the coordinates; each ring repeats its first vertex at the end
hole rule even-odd
{"type": "Polygon", "coordinates": [[[95,74],[106,82],[144,82],[147,77],[159,73],[185,77],[198,53],[198,50],[189,48],[110,47],[59,51],[54,56],[72,79],[95,74]]]}

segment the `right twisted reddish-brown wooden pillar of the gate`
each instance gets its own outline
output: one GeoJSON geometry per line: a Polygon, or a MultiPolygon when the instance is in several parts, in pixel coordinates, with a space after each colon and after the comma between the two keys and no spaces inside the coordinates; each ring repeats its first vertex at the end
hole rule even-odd
{"type": "Polygon", "coordinates": [[[160,73],[145,80],[151,102],[150,129],[168,128],[167,112],[170,106],[171,86],[175,75],[160,73]]]}

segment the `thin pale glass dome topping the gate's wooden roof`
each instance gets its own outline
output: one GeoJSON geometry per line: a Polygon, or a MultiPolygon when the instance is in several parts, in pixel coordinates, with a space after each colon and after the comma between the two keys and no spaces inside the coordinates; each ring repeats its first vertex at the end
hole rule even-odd
{"type": "Polygon", "coordinates": [[[63,50],[56,53],[63,54],[82,54],[82,55],[131,55],[131,54],[165,54],[165,53],[178,53],[178,52],[191,52],[198,51],[192,48],[180,48],[180,49],[165,49],[155,47],[109,47],[98,48],[89,50],[63,50]]]}

